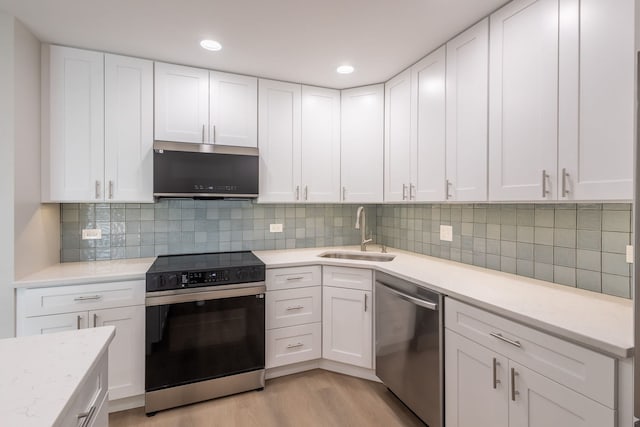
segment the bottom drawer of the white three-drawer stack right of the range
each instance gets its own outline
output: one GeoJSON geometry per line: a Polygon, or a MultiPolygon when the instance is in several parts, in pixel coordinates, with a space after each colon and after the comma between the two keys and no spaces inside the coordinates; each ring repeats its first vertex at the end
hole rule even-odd
{"type": "Polygon", "coordinates": [[[267,331],[267,368],[319,359],[322,324],[289,326],[267,331]]]}

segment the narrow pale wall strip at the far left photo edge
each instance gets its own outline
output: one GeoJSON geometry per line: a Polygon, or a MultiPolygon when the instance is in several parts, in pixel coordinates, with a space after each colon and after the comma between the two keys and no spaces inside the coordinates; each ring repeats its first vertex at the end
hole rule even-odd
{"type": "Polygon", "coordinates": [[[15,334],[13,22],[0,12],[0,338],[15,334]]]}

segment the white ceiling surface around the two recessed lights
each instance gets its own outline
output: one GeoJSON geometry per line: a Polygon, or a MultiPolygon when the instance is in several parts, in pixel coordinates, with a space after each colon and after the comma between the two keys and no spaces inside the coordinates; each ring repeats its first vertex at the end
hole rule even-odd
{"type": "Polygon", "coordinates": [[[42,41],[345,88],[379,83],[506,0],[0,0],[42,41]],[[207,52],[204,38],[223,49],[207,52]],[[356,71],[338,75],[351,64],[356,71]]]}

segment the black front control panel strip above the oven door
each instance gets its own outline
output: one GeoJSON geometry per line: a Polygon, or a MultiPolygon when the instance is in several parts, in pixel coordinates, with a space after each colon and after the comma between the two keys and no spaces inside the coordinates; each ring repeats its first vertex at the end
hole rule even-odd
{"type": "Polygon", "coordinates": [[[147,292],[264,281],[264,267],[147,274],[147,292]]]}

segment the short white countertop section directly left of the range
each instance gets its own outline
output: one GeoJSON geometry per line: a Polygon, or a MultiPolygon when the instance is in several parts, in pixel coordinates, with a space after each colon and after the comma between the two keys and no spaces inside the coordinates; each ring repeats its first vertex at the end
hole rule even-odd
{"type": "Polygon", "coordinates": [[[13,282],[14,288],[82,285],[87,283],[141,280],[155,258],[63,262],[13,282]]]}

